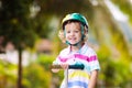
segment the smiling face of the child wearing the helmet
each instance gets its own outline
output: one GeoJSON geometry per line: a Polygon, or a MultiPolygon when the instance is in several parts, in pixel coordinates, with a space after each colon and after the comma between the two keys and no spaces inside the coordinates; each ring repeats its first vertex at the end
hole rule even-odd
{"type": "Polygon", "coordinates": [[[81,28],[79,22],[72,22],[65,25],[66,41],[70,44],[76,44],[81,38],[81,28]]]}

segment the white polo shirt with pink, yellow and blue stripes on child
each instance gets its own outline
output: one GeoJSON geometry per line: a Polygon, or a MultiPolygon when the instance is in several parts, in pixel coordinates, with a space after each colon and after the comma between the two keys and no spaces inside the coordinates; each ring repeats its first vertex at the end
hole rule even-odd
{"type": "MultiPolygon", "coordinates": [[[[68,88],[88,88],[90,74],[95,69],[100,69],[97,54],[95,51],[85,44],[78,52],[69,53],[70,48],[64,48],[54,64],[84,64],[84,70],[80,69],[68,69],[68,88]]],[[[66,77],[66,73],[64,74],[66,77]]],[[[61,88],[65,87],[65,77],[61,88]]]]}

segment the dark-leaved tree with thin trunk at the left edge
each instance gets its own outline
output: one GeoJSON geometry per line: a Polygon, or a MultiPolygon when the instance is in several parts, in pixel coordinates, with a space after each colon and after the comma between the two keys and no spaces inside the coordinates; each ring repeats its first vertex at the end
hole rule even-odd
{"type": "Polygon", "coordinates": [[[21,88],[22,51],[28,46],[33,47],[35,38],[41,35],[46,36],[48,31],[44,33],[43,28],[36,29],[43,23],[35,24],[34,19],[31,18],[32,0],[1,0],[0,3],[0,36],[4,37],[3,46],[12,42],[19,50],[18,88],[21,88]]]}

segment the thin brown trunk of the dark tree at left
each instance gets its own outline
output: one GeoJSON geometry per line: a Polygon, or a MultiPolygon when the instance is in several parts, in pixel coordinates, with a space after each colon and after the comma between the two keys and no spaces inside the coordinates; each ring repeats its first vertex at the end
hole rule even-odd
{"type": "Polygon", "coordinates": [[[22,88],[22,48],[19,48],[18,88],[22,88]]]}

